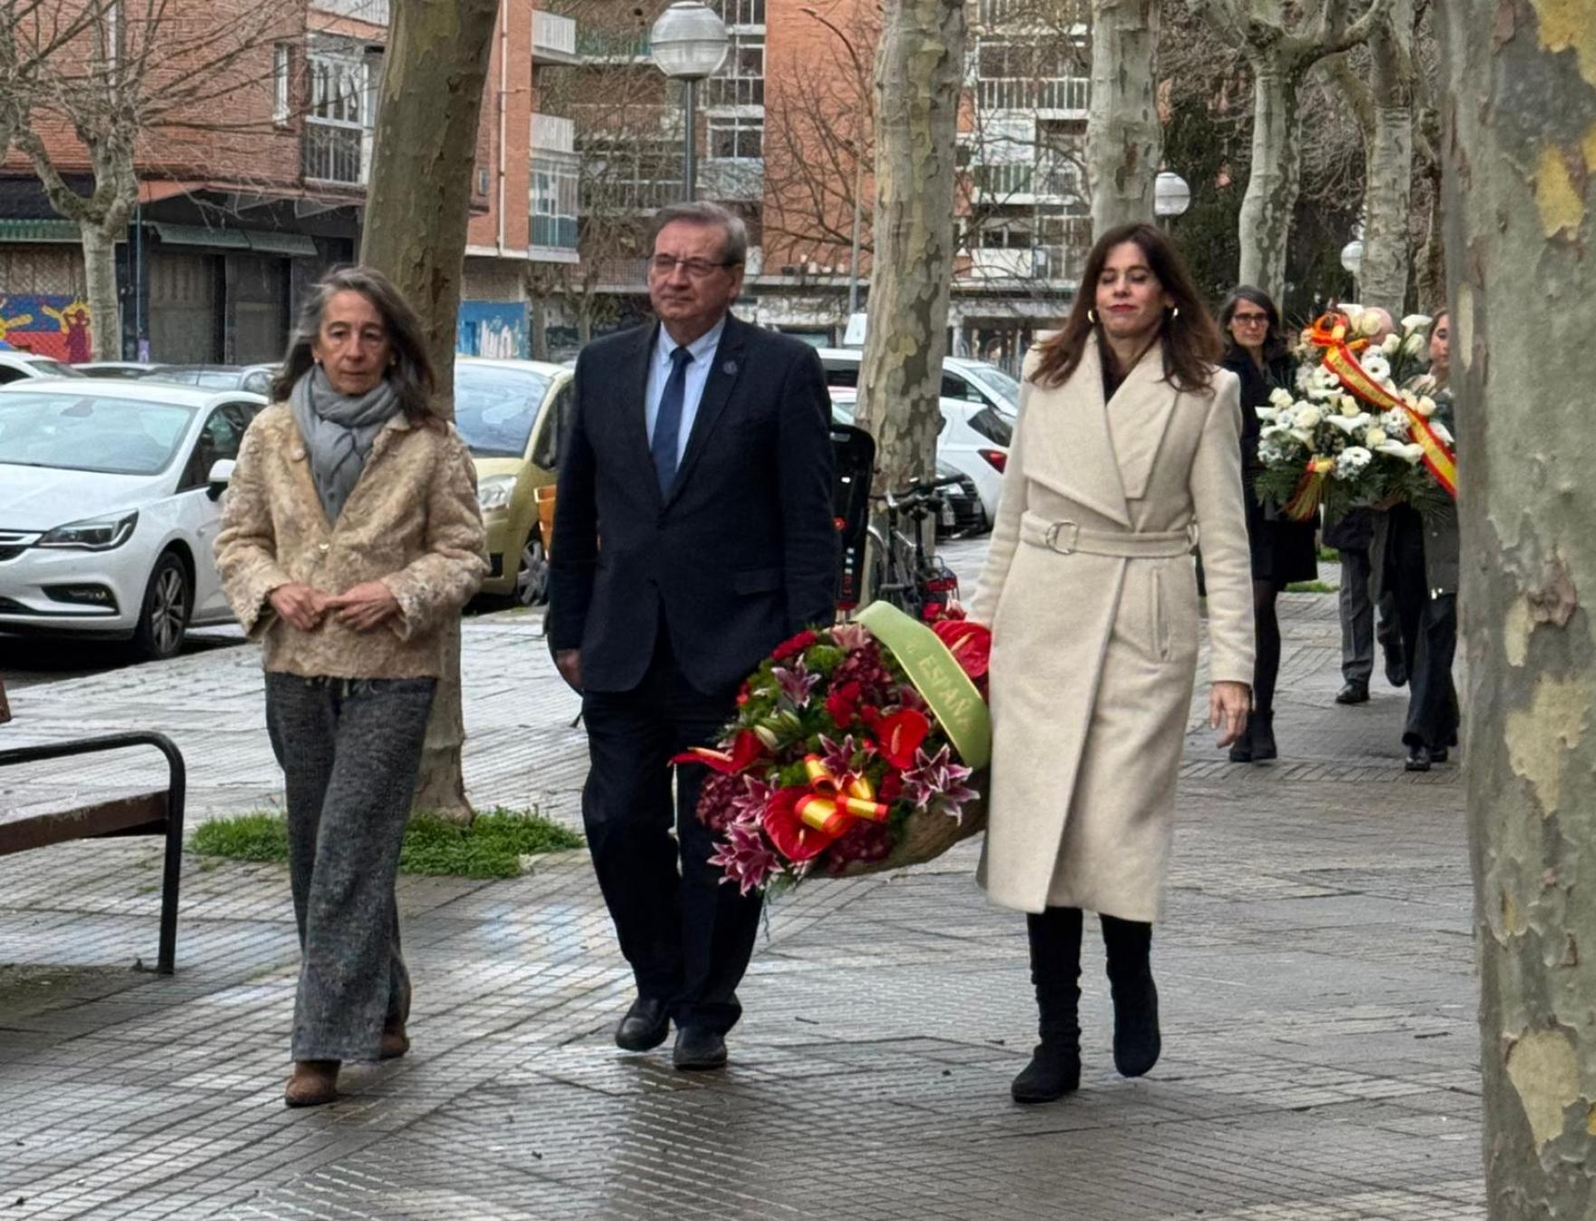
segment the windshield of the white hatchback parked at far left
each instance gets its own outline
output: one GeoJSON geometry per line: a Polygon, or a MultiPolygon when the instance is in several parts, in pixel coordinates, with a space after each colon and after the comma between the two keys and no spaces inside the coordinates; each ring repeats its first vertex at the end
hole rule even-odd
{"type": "Polygon", "coordinates": [[[0,394],[0,463],[148,476],[177,453],[192,407],[102,394],[0,394]]]}

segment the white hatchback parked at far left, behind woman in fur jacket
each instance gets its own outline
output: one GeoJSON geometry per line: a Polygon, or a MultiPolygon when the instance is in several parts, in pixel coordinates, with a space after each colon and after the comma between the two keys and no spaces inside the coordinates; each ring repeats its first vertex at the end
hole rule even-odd
{"type": "Polygon", "coordinates": [[[0,388],[0,632],[169,658],[190,624],[231,619],[217,501],[265,404],[155,381],[0,388]]]}

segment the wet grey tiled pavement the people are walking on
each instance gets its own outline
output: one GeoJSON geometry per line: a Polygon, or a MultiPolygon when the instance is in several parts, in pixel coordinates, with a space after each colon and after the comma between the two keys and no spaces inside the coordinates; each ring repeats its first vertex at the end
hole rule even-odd
{"type": "MultiPolygon", "coordinates": [[[[0,1216],[1483,1218],[1462,787],[1401,771],[1398,694],[1329,702],[1333,599],[1285,605],[1283,761],[1191,741],[1143,1081],[1112,1071],[1092,938],[1084,1089],[1009,1103],[1025,940],[970,846],[779,902],[725,1073],[622,1055],[627,978],[575,854],[402,879],[415,1050],[290,1112],[281,870],[190,859],[163,980],[129,970],[153,954],[155,848],[67,844],[0,860],[0,1216]]],[[[30,686],[5,742],[171,728],[196,806],[246,808],[276,792],[254,666],[30,686]]],[[[468,624],[464,672],[474,798],[575,819],[575,701],[535,627],[468,624]]],[[[62,795],[0,782],[0,806],[62,795]]]]}

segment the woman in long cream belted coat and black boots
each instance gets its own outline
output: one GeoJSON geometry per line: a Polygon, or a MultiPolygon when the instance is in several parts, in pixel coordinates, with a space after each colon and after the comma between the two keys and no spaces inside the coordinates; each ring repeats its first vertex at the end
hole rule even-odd
{"type": "Polygon", "coordinates": [[[1063,330],[1033,350],[970,616],[993,629],[993,765],[980,881],[1028,913],[1042,1042],[1021,1103],[1080,1081],[1080,913],[1103,919],[1114,1063],[1159,1058],[1149,950],[1197,669],[1202,536],[1210,720],[1242,731],[1251,562],[1234,373],[1151,225],[1093,247],[1063,330]]]}

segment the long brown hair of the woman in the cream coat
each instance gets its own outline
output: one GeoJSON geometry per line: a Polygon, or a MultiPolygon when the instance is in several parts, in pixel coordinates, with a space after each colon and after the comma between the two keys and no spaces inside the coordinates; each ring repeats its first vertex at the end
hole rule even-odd
{"type": "MultiPolygon", "coordinates": [[[[1080,367],[1088,335],[1096,334],[1098,343],[1106,342],[1103,324],[1095,314],[1096,283],[1103,278],[1109,251],[1127,241],[1135,243],[1141,251],[1159,286],[1175,302],[1175,308],[1165,311],[1163,324],[1159,327],[1165,381],[1178,389],[1207,389],[1211,383],[1213,364],[1224,353],[1219,329],[1203,308],[1202,298],[1192,286],[1191,273],[1186,271],[1186,263],[1181,262],[1175,246],[1157,228],[1141,222],[1111,228],[1096,239],[1092,254],[1087,255],[1087,270],[1080,276],[1080,287],[1076,292],[1076,305],[1069,311],[1069,318],[1039,348],[1042,362],[1033,375],[1039,386],[1061,386],[1069,380],[1080,367]]],[[[1128,373],[1130,370],[1122,369],[1120,372],[1128,373]]]]}

